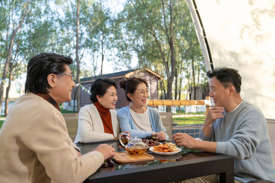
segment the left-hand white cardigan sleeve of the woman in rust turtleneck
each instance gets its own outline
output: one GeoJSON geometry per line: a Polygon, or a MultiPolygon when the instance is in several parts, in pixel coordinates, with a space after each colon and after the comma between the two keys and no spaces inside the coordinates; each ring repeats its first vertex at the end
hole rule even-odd
{"type": "Polygon", "coordinates": [[[100,121],[93,121],[93,111],[89,111],[89,108],[82,107],[78,114],[78,129],[77,129],[77,141],[80,143],[98,142],[105,140],[113,140],[114,136],[109,133],[95,132],[94,124],[102,123],[100,121]]]}

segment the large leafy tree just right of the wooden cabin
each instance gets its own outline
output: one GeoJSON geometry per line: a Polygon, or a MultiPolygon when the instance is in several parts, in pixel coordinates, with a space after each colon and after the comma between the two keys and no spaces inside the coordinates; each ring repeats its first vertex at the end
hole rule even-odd
{"type": "MultiPolygon", "coordinates": [[[[136,54],[140,66],[163,73],[167,86],[165,89],[160,82],[161,90],[166,93],[166,99],[172,99],[174,79],[184,72],[187,56],[193,49],[184,36],[190,35],[190,31],[195,33],[185,1],[130,0],[117,23],[122,27],[117,35],[124,35],[124,46],[120,46],[120,50],[127,52],[129,60],[136,54]]],[[[189,39],[198,42],[196,36],[189,39]]]]}

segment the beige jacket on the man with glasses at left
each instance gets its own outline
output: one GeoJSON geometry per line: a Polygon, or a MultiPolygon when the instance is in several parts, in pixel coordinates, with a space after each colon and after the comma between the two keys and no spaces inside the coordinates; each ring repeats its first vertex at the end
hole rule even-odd
{"type": "Polygon", "coordinates": [[[82,182],[103,163],[98,151],[77,158],[65,120],[29,93],[11,107],[0,131],[0,182],[82,182]]]}

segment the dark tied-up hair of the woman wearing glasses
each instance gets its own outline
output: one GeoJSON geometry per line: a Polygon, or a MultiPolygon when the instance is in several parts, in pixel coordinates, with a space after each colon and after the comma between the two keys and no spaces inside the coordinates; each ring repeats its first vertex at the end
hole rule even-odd
{"type": "Polygon", "coordinates": [[[123,79],[120,81],[120,88],[125,89],[125,95],[128,102],[131,102],[132,100],[128,97],[127,94],[133,94],[136,90],[137,85],[139,85],[140,83],[144,83],[146,87],[148,87],[147,81],[141,77],[130,77],[126,80],[123,79]]]}

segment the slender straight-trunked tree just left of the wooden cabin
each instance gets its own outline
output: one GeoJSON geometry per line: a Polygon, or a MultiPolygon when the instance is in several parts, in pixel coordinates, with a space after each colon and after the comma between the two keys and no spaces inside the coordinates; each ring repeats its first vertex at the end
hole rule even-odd
{"type": "Polygon", "coordinates": [[[77,111],[79,111],[81,59],[84,54],[87,53],[87,49],[90,49],[89,44],[92,44],[91,42],[93,42],[90,35],[101,21],[101,11],[98,11],[98,9],[101,9],[101,4],[100,2],[98,3],[89,0],[76,0],[59,3],[60,8],[65,13],[65,19],[61,22],[61,26],[67,33],[67,38],[65,38],[65,40],[70,48],[68,53],[75,57],[76,65],[72,65],[70,69],[73,73],[76,72],[77,87],[74,95],[75,98],[73,100],[77,101],[77,111]]]}

